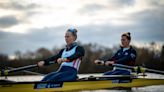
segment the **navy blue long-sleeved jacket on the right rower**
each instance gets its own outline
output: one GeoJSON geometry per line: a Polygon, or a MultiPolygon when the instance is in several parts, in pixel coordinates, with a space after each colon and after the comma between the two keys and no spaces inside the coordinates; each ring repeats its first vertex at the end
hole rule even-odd
{"type": "Polygon", "coordinates": [[[134,66],[136,61],[137,53],[131,46],[128,50],[123,51],[121,47],[114,56],[109,58],[107,61],[114,61],[117,64],[134,66]]]}

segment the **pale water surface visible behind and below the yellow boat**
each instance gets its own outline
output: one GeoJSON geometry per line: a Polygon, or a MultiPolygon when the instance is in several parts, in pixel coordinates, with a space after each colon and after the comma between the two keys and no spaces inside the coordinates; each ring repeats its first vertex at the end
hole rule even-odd
{"type": "MultiPolygon", "coordinates": [[[[99,76],[101,74],[79,74],[79,78],[88,77],[88,76],[99,76]]],[[[40,81],[44,76],[33,75],[33,76],[10,76],[9,80],[13,81],[40,81]]],[[[0,77],[4,79],[4,77],[0,77]]],[[[161,78],[164,79],[164,75],[159,74],[147,74],[146,78],[161,78]]],[[[127,90],[116,90],[116,89],[103,89],[103,90],[83,90],[83,91],[75,91],[75,92],[164,92],[164,85],[158,86],[147,86],[147,87],[138,87],[127,90]]]]}

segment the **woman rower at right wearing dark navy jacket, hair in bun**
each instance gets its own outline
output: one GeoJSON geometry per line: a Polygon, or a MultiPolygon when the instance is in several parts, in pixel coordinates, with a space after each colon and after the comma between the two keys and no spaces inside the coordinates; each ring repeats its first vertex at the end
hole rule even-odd
{"type": "MultiPolygon", "coordinates": [[[[116,64],[123,64],[128,66],[134,66],[137,53],[132,46],[130,46],[131,42],[131,35],[129,32],[123,33],[121,35],[121,48],[115,53],[114,56],[109,58],[106,61],[103,60],[95,60],[96,64],[100,65],[112,65],[116,64]]],[[[112,71],[108,71],[104,73],[104,75],[130,75],[131,70],[125,68],[114,67],[112,71]]]]}

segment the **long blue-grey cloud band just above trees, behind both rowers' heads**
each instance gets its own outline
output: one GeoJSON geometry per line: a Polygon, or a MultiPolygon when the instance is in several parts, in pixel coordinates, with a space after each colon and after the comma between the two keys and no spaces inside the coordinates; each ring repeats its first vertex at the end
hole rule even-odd
{"type": "MultiPolygon", "coordinates": [[[[153,28],[153,27],[152,27],[153,28]]],[[[149,27],[120,26],[110,24],[79,26],[78,41],[82,43],[98,43],[104,46],[120,44],[120,36],[124,32],[131,32],[132,41],[149,43],[164,42],[162,31],[149,27]]],[[[54,46],[65,44],[64,33],[66,27],[31,29],[27,34],[7,33],[0,31],[0,52],[11,54],[17,50],[25,52],[35,51],[40,47],[52,49],[54,46]]]]}

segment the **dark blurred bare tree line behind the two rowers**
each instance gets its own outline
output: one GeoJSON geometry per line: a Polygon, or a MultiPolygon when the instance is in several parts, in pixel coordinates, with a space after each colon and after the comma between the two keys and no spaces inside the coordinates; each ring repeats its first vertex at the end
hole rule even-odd
{"type": "MultiPolygon", "coordinates": [[[[79,73],[103,73],[112,69],[111,66],[98,66],[94,64],[96,59],[107,59],[111,57],[120,47],[119,45],[112,48],[101,46],[98,44],[82,44],[78,42],[85,49],[85,56],[81,62],[79,73]]],[[[164,45],[161,50],[156,50],[156,43],[150,43],[150,47],[136,47],[137,59],[136,65],[144,66],[147,68],[163,70],[164,71],[164,45]]],[[[62,47],[61,47],[62,48],[62,47]]],[[[27,51],[21,53],[15,52],[15,58],[10,59],[8,55],[0,54],[0,68],[9,69],[9,67],[21,67],[30,64],[36,64],[40,60],[44,60],[56,53],[61,49],[60,47],[54,47],[52,50],[47,48],[39,48],[35,52],[27,51]]],[[[41,68],[30,69],[30,71],[46,74],[55,71],[59,68],[58,64],[52,64],[41,68]]],[[[13,73],[11,75],[24,74],[13,73]]]]}

